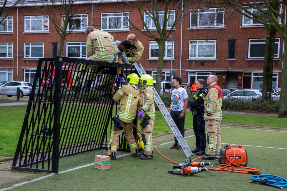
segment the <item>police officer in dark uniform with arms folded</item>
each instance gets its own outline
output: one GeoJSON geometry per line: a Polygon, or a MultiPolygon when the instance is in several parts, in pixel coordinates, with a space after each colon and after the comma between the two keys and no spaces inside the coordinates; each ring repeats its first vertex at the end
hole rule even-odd
{"type": "Polygon", "coordinates": [[[206,149],[206,135],[205,135],[205,121],[204,114],[204,100],[208,93],[205,88],[205,80],[198,79],[196,81],[196,88],[198,89],[193,98],[189,101],[190,111],[193,112],[193,131],[196,138],[196,148],[191,152],[196,155],[205,155],[206,149]]]}

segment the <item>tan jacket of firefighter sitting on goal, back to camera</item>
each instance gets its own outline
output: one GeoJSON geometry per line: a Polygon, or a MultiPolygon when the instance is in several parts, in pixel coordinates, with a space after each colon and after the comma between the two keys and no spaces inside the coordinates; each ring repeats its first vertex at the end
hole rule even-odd
{"type": "Polygon", "coordinates": [[[95,29],[87,38],[87,53],[104,62],[113,62],[118,49],[114,37],[108,32],[95,29]]]}

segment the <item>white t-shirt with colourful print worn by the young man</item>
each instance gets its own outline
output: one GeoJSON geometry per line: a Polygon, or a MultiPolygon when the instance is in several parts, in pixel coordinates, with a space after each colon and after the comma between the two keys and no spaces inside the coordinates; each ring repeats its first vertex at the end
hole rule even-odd
{"type": "Polygon", "coordinates": [[[188,99],[187,92],[185,88],[178,88],[172,90],[171,93],[171,110],[172,111],[182,111],[184,106],[184,99],[188,99]]]}

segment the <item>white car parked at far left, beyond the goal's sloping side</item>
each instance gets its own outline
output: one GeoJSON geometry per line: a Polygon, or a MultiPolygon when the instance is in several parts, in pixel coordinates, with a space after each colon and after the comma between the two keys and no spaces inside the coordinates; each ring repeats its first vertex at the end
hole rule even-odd
{"type": "Polygon", "coordinates": [[[32,89],[32,84],[29,82],[7,82],[0,86],[0,94],[12,97],[17,95],[17,88],[20,88],[20,97],[29,95],[32,89]]]}

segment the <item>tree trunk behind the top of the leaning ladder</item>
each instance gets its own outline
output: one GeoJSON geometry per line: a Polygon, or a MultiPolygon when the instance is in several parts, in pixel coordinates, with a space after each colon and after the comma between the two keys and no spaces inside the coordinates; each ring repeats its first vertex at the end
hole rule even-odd
{"type": "Polygon", "coordinates": [[[160,94],[160,86],[162,80],[162,67],[163,67],[163,57],[164,57],[164,47],[165,41],[158,42],[158,67],[156,70],[156,91],[160,94]]]}

